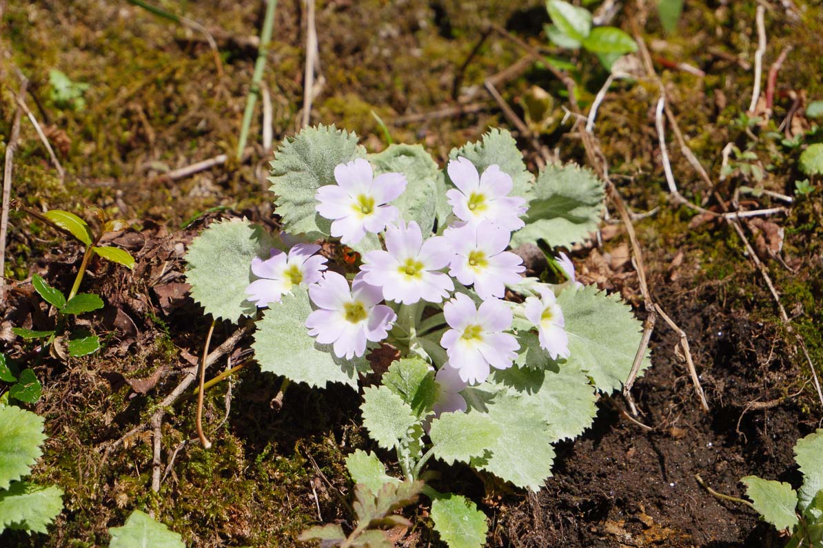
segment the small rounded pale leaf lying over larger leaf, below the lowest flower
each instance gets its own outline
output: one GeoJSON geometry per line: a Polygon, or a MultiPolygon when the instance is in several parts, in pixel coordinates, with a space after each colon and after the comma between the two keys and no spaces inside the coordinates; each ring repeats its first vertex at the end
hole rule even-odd
{"type": "Polygon", "coordinates": [[[485,413],[448,412],[431,421],[432,454],[446,464],[483,458],[500,436],[500,426],[485,413]]]}

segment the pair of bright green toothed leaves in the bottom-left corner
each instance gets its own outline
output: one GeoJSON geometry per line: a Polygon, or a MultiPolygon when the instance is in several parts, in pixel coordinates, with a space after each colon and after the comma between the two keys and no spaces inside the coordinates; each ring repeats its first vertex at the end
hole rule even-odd
{"type": "Polygon", "coordinates": [[[40,458],[45,439],[42,417],[0,407],[0,533],[46,532],[63,510],[63,490],[23,480],[40,458]]]}

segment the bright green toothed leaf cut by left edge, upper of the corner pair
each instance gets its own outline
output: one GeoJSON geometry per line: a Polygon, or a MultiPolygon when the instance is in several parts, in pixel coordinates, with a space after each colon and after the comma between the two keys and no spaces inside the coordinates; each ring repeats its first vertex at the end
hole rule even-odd
{"type": "Polygon", "coordinates": [[[14,406],[0,408],[0,489],[29,475],[45,440],[43,417],[14,406]]]}

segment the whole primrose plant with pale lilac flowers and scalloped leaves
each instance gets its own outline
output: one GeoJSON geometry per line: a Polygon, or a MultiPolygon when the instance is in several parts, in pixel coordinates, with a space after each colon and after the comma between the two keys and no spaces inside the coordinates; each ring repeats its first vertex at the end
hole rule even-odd
{"type": "Polygon", "coordinates": [[[602,182],[572,164],[533,177],[507,131],[449,157],[441,169],[420,145],[366,154],[351,133],[306,128],[272,162],[283,232],[233,219],[189,247],[188,282],[205,311],[259,317],[263,371],[357,389],[369,357],[398,356],[363,389],[378,451],[346,459],[359,484],[356,529],[313,527],[304,539],[391,546],[380,527],[399,518],[388,509],[419,491],[449,546],[481,546],[485,515],[438,490],[430,463],[539,490],[552,444],[591,425],[597,394],[621,387],[639,348],[630,307],[577,283],[565,254],[546,256],[552,274],[537,278],[510,251],[583,242],[602,214],[602,182]]]}

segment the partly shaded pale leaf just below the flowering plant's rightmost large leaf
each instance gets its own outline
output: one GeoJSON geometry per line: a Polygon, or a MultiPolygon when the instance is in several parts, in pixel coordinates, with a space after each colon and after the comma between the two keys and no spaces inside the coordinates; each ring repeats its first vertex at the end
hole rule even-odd
{"type": "Polygon", "coordinates": [[[514,389],[540,412],[552,442],[576,438],[597,415],[597,394],[588,375],[571,364],[545,370],[513,366],[495,371],[495,381],[514,389]]]}

